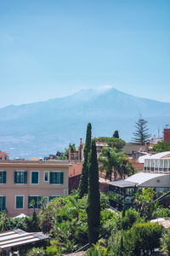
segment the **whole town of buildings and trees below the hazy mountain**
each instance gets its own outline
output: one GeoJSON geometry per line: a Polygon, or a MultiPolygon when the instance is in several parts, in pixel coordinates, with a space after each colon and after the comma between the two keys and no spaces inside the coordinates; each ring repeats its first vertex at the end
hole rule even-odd
{"type": "Polygon", "coordinates": [[[170,252],[170,128],[150,138],[140,117],[133,143],[92,129],[43,160],[0,152],[2,255],[170,252]]]}

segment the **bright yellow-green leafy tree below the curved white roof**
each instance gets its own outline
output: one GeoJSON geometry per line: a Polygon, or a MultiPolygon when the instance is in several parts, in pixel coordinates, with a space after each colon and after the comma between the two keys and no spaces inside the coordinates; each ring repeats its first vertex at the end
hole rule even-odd
{"type": "Polygon", "coordinates": [[[146,219],[151,218],[152,212],[155,210],[153,201],[156,199],[156,191],[153,189],[141,189],[135,195],[134,202],[139,208],[141,215],[146,219]]]}

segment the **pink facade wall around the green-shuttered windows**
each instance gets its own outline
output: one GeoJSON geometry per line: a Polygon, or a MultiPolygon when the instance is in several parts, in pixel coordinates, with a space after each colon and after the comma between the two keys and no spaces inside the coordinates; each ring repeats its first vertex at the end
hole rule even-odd
{"type": "MultiPolygon", "coordinates": [[[[3,161],[0,162],[0,170],[7,172],[6,183],[0,183],[0,195],[6,196],[6,209],[8,216],[16,216],[20,213],[31,215],[32,209],[28,208],[28,196],[52,196],[65,195],[68,192],[68,163],[55,161],[3,161]],[[27,171],[27,183],[14,183],[14,171],[27,171]],[[39,184],[31,184],[31,171],[39,171],[39,184]],[[43,172],[64,172],[63,184],[50,184],[43,181],[43,172]],[[15,209],[15,195],[24,195],[24,209],[15,209]]],[[[39,211],[38,209],[36,210],[39,211]]]]}

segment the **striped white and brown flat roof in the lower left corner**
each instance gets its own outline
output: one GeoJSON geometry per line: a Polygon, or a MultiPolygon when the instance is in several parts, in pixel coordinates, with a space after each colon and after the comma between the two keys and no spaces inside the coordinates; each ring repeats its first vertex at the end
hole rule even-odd
{"type": "Polygon", "coordinates": [[[48,236],[39,233],[28,233],[24,230],[8,230],[0,233],[0,252],[4,249],[22,246],[27,243],[48,239],[48,236]]]}

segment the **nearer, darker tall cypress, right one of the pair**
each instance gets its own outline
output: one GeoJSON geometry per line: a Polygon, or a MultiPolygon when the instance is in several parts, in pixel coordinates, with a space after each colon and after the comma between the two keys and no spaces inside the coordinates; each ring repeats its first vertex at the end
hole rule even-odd
{"type": "Polygon", "coordinates": [[[88,241],[92,245],[99,240],[100,201],[99,169],[95,142],[88,155],[88,241]]]}

